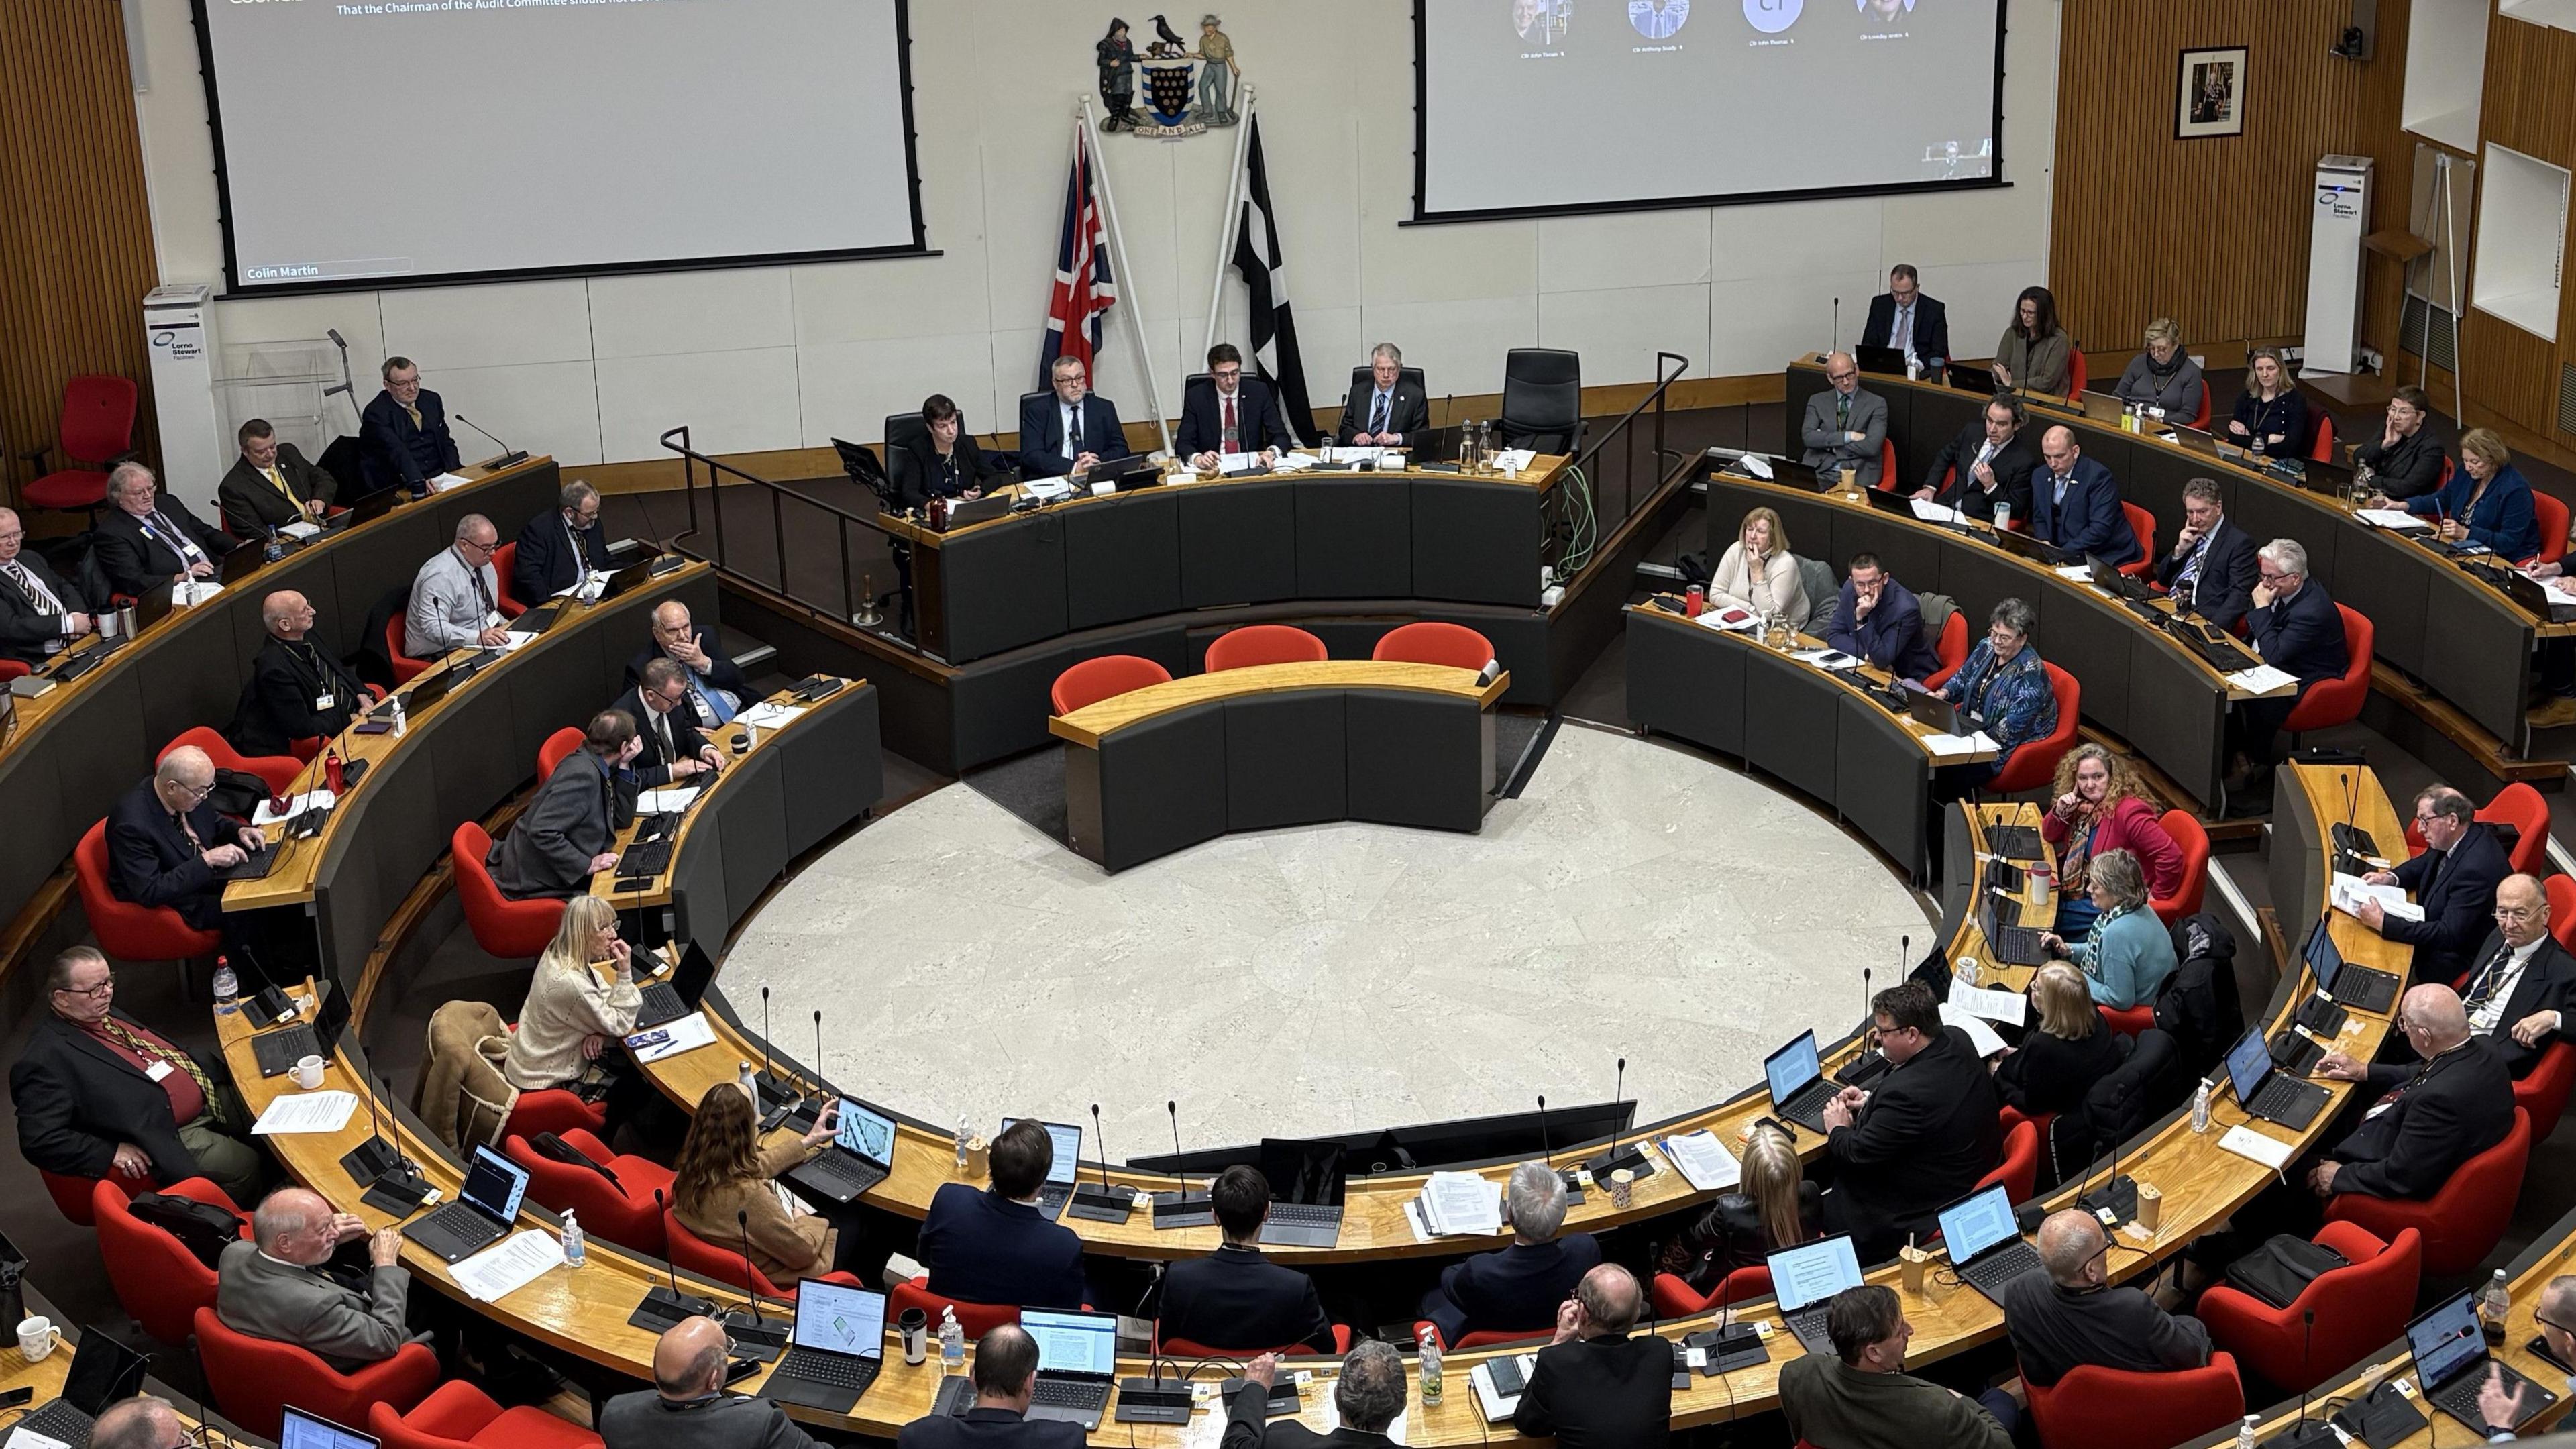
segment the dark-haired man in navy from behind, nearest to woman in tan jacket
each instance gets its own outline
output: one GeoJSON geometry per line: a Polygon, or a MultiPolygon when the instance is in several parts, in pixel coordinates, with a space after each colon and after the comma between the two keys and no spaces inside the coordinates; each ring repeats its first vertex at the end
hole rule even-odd
{"type": "Polygon", "coordinates": [[[945,1183],[930,1199],[920,1245],[930,1292],[966,1302],[1082,1307],[1082,1238],[1038,1212],[1056,1142],[1043,1124],[1023,1116],[992,1140],[989,1160],[989,1189],[945,1183]]]}

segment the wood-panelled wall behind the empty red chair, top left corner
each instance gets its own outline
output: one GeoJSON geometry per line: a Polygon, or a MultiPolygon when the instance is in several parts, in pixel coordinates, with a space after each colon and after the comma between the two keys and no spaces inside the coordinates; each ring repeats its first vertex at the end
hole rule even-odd
{"type": "Polygon", "coordinates": [[[137,446],[152,456],[142,297],[160,266],[118,5],[5,0],[0,57],[0,474],[15,500],[33,477],[18,454],[54,443],[75,374],[144,389],[137,446]]]}

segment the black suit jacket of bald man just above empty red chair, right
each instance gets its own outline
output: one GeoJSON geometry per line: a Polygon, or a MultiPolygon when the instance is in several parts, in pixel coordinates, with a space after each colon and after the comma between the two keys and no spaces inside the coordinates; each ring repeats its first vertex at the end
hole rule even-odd
{"type": "Polygon", "coordinates": [[[2514,1073],[2486,1036],[2470,1036],[2432,1062],[2370,1067],[2370,1085],[2388,1093],[2326,1152],[2342,1163],[2334,1191],[2424,1201],[2460,1163],[2504,1142],[2514,1129],[2514,1073]]]}

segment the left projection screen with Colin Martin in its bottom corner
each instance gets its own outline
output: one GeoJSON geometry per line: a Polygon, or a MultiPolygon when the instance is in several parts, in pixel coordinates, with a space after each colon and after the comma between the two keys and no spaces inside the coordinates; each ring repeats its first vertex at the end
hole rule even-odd
{"type": "Polygon", "coordinates": [[[196,0],[234,294],[917,253],[904,0],[196,0]]]}

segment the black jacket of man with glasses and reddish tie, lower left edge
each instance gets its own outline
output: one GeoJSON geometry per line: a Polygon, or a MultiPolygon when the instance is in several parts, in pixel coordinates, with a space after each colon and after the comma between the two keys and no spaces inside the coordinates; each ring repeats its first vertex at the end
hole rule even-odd
{"type": "MultiPolygon", "coordinates": [[[[108,1013],[142,1026],[124,1011],[108,1013]]],[[[222,1060],[188,1055],[206,1080],[232,1080],[222,1060]]],[[[134,1142],[152,1158],[152,1181],[167,1186],[198,1176],[196,1158],[178,1140],[170,1093],[52,1011],[36,1013],[26,1049],[8,1070],[8,1096],[18,1104],[18,1155],[49,1173],[106,1178],[116,1145],[134,1142]]]]}

